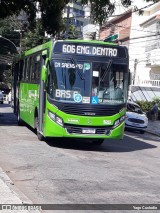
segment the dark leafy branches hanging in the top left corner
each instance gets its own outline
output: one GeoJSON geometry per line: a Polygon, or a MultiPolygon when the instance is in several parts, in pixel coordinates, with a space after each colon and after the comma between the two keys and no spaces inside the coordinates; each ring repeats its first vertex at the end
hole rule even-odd
{"type": "Polygon", "coordinates": [[[18,16],[24,11],[28,18],[29,28],[34,29],[36,14],[39,12],[43,30],[54,36],[62,30],[61,13],[68,2],[69,0],[3,0],[0,2],[0,18],[3,19],[13,14],[18,16]]]}

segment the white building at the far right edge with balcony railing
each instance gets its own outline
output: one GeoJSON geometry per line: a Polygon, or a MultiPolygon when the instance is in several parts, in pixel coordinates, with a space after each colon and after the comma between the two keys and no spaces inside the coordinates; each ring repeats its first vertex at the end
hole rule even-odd
{"type": "MultiPolygon", "coordinates": [[[[144,60],[145,73],[144,76],[138,72],[140,85],[151,85],[160,87],[160,2],[145,9],[148,17],[140,23],[140,27],[144,32],[144,60]]],[[[140,63],[140,60],[138,60],[140,63]]],[[[137,64],[137,70],[139,69],[137,64]]],[[[138,79],[137,79],[138,80],[138,79]]]]}

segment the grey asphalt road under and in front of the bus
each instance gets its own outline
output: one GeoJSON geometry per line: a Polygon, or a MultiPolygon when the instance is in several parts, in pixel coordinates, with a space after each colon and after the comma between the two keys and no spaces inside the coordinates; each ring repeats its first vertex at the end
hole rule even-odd
{"type": "Polygon", "coordinates": [[[0,105],[0,165],[36,204],[160,203],[160,138],[125,132],[100,146],[78,140],[40,142],[0,105]]]}

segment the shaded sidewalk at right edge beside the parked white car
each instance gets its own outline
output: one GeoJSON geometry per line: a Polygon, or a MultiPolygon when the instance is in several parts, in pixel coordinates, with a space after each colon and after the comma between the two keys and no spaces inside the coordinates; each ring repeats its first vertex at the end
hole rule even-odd
{"type": "Polygon", "coordinates": [[[160,120],[157,121],[149,120],[146,132],[160,137],[160,120]]]}

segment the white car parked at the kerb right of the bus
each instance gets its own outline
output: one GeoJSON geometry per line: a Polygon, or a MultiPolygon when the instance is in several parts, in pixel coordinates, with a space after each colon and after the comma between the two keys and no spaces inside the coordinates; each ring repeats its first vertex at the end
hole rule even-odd
{"type": "Polygon", "coordinates": [[[127,112],[125,119],[125,129],[138,130],[144,133],[148,126],[148,118],[141,107],[131,101],[127,102],[127,112]]]}

